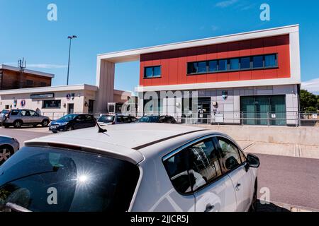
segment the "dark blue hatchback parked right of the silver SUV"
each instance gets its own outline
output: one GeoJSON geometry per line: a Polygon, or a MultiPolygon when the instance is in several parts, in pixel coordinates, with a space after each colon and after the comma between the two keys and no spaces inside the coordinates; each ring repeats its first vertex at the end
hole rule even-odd
{"type": "Polygon", "coordinates": [[[96,126],[94,116],[91,114],[67,114],[64,117],[52,121],[49,130],[53,133],[70,131],[96,126]]]}

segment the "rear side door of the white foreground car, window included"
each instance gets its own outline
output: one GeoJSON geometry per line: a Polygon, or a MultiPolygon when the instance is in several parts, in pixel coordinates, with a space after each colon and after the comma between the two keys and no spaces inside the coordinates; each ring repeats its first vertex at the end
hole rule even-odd
{"type": "Polygon", "coordinates": [[[220,167],[213,138],[205,138],[188,148],[190,177],[196,212],[233,212],[236,210],[233,183],[220,167]]]}

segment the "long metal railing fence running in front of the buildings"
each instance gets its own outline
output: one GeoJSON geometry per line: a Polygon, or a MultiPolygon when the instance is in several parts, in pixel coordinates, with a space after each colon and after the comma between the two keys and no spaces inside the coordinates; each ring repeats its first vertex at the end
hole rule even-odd
{"type": "MultiPolygon", "coordinates": [[[[87,112],[74,112],[82,114],[87,112]]],[[[52,120],[59,119],[67,112],[42,112],[52,120]]],[[[181,124],[237,124],[262,126],[319,126],[318,112],[90,112],[98,118],[102,114],[126,114],[134,117],[144,115],[170,115],[181,124]]]]}

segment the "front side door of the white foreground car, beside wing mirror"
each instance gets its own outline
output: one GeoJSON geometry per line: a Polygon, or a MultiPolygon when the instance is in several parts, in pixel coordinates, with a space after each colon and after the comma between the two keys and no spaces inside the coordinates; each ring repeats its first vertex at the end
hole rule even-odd
{"type": "Polygon", "coordinates": [[[216,137],[216,145],[220,150],[220,162],[223,170],[233,182],[237,211],[248,211],[252,203],[254,189],[249,169],[246,170],[246,163],[240,157],[240,148],[228,138],[220,136],[216,137]]]}

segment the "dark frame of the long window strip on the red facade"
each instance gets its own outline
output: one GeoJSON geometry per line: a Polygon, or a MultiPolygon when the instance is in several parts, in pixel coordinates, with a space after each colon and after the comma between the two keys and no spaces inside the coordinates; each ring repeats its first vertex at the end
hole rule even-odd
{"type": "Polygon", "coordinates": [[[279,64],[278,64],[278,59],[279,59],[279,54],[278,53],[274,53],[274,54],[259,54],[259,55],[252,55],[252,56],[246,56],[246,57],[231,57],[231,58],[224,58],[224,59],[210,59],[206,61],[206,72],[196,72],[196,73],[190,73],[189,71],[189,64],[198,64],[204,61],[191,61],[191,62],[187,62],[186,63],[186,75],[187,76],[196,76],[196,75],[201,75],[201,74],[209,74],[209,73],[226,73],[226,72],[235,72],[235,71],[255,71],[255,70],[267,70],[267,69],[278,69],[279,68],[279,64]],[[266,56],[271,56],[274,55],[275,56],[275,65],[274,66],[265,66],[265,57],[266,56]],[[247,69],[240,69],[240,59],[242,58],[247,58],[250,57],[250,68],[247,69]],[[263,57],[262,61],[263,61],[263,66],[262,67],[256,67],[254,68],[253,65],[253,59],[254,57],[263,57]],[[239,60],[239,69],[230,69],[230,60],[232,59],[238,59],[239,60]],[[219,62],[223,61],[223,60],[227,60],[227,66],[226,66],[226,70],[225,71],[220,71],[219,69],[219,62]],[[210,71],[209,70],[209,62],[211,61],[216,61],[217,63],[217,71],[210,71]]]}

